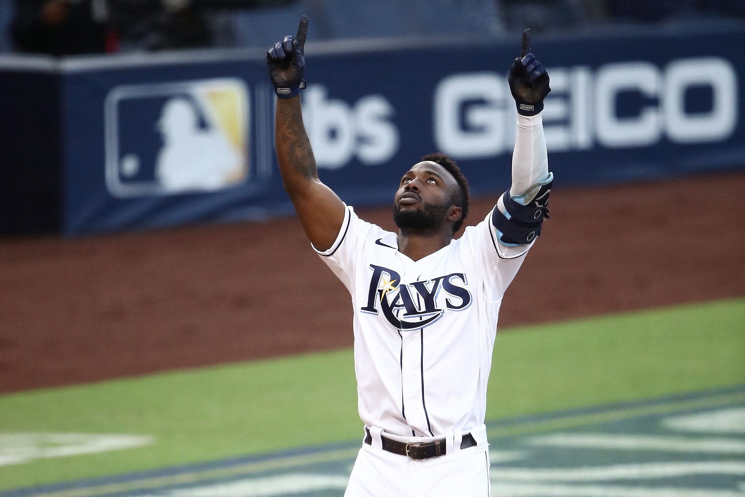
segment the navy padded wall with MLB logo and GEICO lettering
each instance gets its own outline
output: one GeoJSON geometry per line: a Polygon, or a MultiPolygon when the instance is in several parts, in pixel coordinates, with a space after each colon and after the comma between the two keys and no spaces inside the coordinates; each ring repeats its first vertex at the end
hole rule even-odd
{"type": "MultiPolygon", "coordinates": [[[[557,187],[745,165],[743,46],[745,26],[729,23],[536,35],[557,187]]],[[[475,194],[503,191],[518,49],[519,37],[308,44],[303,112],[321,179],[347,203],[387,203],[408,165],[443,151],[475,194]]],[[[263,51],[11,57],[0,71],[0,106],[19,116],[0,124],[4,198],[16,199],[0,204],[2,232],[291,212],[263,51]]]]}

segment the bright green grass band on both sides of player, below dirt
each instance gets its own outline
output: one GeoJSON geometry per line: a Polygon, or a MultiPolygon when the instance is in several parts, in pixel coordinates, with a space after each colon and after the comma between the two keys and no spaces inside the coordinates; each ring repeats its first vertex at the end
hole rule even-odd
{"type": "MultiPolygon", "coordinates": [[[[500,332],[487,418],[745,383],[745,300],[500,332]]],[[[139,449],[0,466],[0,489],[361,437],[352,352],[0,396],[0,429],[149,434],[139,449]]]]}

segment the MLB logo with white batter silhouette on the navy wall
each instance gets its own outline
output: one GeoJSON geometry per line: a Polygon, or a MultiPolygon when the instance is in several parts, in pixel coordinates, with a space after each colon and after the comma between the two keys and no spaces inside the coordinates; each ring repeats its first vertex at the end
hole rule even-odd
{"type": "Polygon", "coordinates": [[[248,106],[235,78],[115,87],[104,109],[107,189],[126,198],[247,183],[248,106]]]}

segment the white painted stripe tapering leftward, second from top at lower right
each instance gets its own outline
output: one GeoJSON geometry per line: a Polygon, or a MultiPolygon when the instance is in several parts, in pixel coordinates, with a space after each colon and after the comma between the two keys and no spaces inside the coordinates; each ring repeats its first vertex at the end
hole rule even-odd
{"type": "Polygon", "coordinates": [[[582,447],[583,449],[745,454],[745,440],[722,437],[691,438],[606,433],[557,433],[532,437],[528,440],[528,443],[533,446],[582,447]]]}

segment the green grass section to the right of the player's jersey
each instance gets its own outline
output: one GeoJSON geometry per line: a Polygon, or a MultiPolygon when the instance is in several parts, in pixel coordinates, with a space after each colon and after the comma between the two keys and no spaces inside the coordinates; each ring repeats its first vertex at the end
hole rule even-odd
{"type": "Polygon", "coordinates": [[[498,336],[486,416],[745,383],[745,300],[614,314],[498,336]]]}

